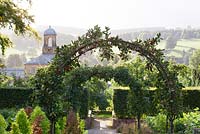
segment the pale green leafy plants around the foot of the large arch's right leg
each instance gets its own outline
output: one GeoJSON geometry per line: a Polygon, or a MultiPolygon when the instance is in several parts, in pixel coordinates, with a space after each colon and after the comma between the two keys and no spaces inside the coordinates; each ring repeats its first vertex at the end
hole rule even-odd
{"type": "MultiPolygon", "coordinates": [[[[166,132],[166,115],[159,113],[156,116],[147,116],[145,121],[154,132],[166,132]]],[[[194,109],[192,112],[183,113],[180,118],[174,121],[174,132],[178,134],[192,134],[197,128],[200,128],[199,108],[194,109]]]]}

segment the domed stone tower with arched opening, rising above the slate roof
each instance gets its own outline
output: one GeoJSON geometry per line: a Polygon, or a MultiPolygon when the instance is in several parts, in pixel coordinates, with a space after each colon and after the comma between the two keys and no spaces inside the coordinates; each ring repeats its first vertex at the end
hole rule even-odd
{"type": "Polygon", "coordinates": [[[56,50],[56,31],[49,26],[44,31],[44,45],[42,48],[42,54],[55,54],[56,50]]]}

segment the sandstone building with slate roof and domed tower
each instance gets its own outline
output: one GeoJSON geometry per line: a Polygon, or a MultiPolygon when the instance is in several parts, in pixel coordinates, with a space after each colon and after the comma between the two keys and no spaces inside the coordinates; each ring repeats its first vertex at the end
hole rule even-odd
{"type": "Polygon", "coordinates": [[[25,74],[33,75],[38,68],[45,67],[52,61],[56,50],[56,32],[51,26],[44,31],[44,44],[42,54],[39,57],[33,58],[24,64],[25,74]]]}

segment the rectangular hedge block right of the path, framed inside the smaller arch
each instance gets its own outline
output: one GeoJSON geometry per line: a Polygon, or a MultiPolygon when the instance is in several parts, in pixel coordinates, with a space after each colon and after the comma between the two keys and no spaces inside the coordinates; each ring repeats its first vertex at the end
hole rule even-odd
{"type": "Polygon", "coordinates": [[[118,118],[126,118],[128,114],[128,91],[122,89],[114,89],[113,107],[115,115],[118,118]]]}

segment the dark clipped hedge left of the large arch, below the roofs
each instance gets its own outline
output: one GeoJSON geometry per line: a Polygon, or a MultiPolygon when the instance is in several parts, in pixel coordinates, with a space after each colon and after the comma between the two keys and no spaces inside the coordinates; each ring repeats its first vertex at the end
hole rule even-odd
{"type": "Polygon", "coordinates": [[[0,88],[0,109],[25,106],[32,92],[30,88],[0,88]]]}

